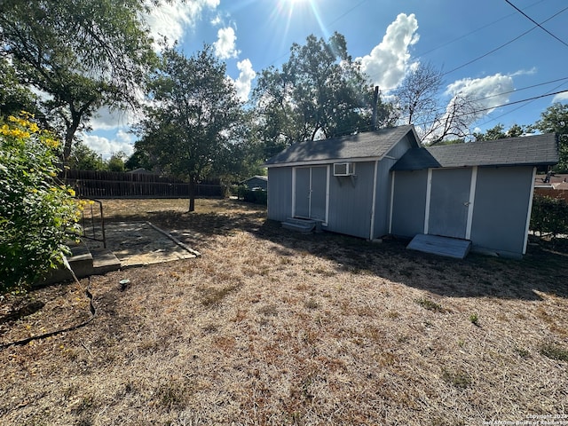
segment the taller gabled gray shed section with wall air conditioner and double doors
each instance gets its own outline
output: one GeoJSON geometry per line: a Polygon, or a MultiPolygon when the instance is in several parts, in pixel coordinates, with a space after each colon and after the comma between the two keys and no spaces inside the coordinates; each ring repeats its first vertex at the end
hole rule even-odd
{"type": "Polygon", "coordinates": [[[418,146],[410,125],[289,146],[264,164],[268,218],[374,240],[389,230],[390,168],[418,146]]]}

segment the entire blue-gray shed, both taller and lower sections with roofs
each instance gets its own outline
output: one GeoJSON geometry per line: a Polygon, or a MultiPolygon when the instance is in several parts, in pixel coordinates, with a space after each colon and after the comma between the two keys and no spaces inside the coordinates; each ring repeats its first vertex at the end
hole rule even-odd
{"type": "Polygon", "coordinates": [[[538,166],[554,135],[422,147],[411,125],[297,143],[264,164],[268,218],[375,240],[419,234],[522,256],[538,166]]]}

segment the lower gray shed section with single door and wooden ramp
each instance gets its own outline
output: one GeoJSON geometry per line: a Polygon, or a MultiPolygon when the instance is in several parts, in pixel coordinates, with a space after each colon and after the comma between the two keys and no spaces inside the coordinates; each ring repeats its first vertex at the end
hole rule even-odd
{"type": "Polygon", "coordinates": [[[468,240],[473,251],[520,257],[537,167],[556,162],[553,134],[408,150],[391,168],[389,233],[468,240]]]}

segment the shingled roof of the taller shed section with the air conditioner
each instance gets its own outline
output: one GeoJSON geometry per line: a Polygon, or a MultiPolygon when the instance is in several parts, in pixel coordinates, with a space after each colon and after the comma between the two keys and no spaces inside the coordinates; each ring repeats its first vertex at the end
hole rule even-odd
{"type": "Polygon", "coordinates": [[[367,131],[343,138],[330,138],[298,142],[280,154],[274,155],[264,166],[289,165],[290,163],[330,162],[335,160],[381,159],[402,138],[409,134],[411,143],[419,146],[414,126],[406,125],[390,129],[367,131]]]}

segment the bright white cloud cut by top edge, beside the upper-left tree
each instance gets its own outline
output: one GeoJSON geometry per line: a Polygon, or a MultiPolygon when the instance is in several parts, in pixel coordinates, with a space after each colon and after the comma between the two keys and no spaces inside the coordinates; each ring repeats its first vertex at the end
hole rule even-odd
{"type": "MultiPolygon", "coordinates": [[[[163,2],[159,7],[152,6],[151,12],[146,15],[146,22],[154,40],[167,37],[168,45],[173,45],[184,36],[186,28],[193,28],[206,10],[215,10],[220,0],[172,0],[163,2]]],[[[159,50],[156,44],[155,49],[159,50]]]]}

